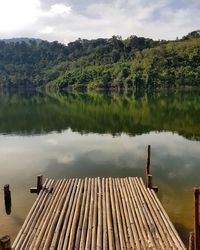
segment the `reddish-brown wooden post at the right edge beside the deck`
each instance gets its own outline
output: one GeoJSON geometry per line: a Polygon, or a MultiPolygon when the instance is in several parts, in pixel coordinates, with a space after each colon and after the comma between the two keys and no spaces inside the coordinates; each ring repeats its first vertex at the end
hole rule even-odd
{"type": "Polygon", "coordinates": [[[200,249],[199,244],[199,187],[194,187],[194,250],[200,249]]]}

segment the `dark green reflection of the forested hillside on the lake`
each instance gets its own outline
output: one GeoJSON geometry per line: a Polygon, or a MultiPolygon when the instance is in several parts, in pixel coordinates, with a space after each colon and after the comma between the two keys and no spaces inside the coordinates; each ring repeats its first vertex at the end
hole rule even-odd
{"type": "Polygon", "coordinates": [[[171,131],[200,138],[197,92],[154,94],[72,93],[0,98],[0,133],[43,134],[71,128],[80,133],[143,134],[171,131]]]}

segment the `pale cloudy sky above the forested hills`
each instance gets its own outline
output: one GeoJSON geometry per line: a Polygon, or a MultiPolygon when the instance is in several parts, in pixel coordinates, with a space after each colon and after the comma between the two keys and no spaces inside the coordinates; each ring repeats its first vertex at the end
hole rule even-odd
{"type": "Polygon", "coordinates": [[[0,0],[1,39],[176,39],[197,29],[200,0],[0,0]]]}

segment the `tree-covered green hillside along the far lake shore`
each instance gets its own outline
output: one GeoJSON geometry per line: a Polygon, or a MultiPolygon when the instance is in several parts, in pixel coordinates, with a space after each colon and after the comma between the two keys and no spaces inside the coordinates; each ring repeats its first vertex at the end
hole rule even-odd
{"type": "Polygon", "coordinates": [[[160,88],[200,86],[200,31],[176,41],[131,36],[67,46],[0,40],[0,87],[160,88]]]}

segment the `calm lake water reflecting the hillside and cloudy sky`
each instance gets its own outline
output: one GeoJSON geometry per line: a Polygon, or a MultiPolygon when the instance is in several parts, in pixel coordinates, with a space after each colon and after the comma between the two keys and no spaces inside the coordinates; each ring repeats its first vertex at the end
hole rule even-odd
{"type": "Polygon", "coordinates": [[[0,235],[14,237],[36,195],[36,175],[142,176],[146,146],[159,198],[185,243],[192,186],[200,185],[199,92],[154,94],[1,94],[0,235]]]}

